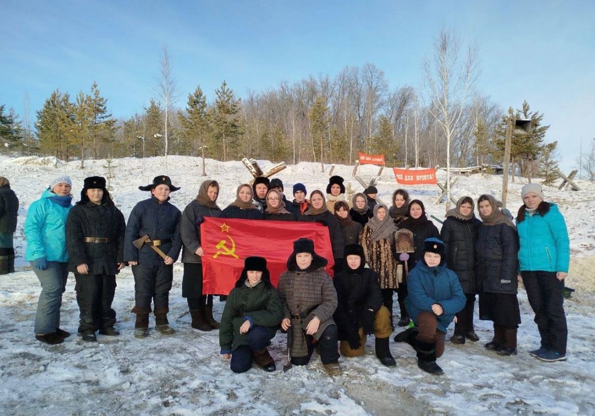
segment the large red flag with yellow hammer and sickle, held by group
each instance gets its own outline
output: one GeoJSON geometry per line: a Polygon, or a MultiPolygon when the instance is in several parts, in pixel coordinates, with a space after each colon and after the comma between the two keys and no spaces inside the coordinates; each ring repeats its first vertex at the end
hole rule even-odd
{"type": "Polygon", "coordinates": [[[320,223],[206,217],[201,224],[203,294],[229,294],[250,256],[267,259],[276,288],[293,241],[300,237],[314,241],[316,253],[328,260],[325,272],[332,276],[333,249],[328,228],[320,223]]]}

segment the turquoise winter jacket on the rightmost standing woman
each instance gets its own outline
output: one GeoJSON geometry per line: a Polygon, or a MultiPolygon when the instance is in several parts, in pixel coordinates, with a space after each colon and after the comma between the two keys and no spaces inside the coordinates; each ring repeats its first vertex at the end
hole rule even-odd
{"type": "Polygon", "coordinates": [[[516,221],[521,248],[519,270],[543,272],[566,272],[570,263],[570,242],[566,221],[558,206],[550,203],[546,215],[538,213],[525,220],[516,221]]]}

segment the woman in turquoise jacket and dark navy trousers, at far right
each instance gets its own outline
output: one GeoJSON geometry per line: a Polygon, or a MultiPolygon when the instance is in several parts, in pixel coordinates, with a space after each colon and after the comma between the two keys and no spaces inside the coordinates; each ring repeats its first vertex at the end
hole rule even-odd
{"type": "Polygon", "coordinates": [[[524,204],[516,215],[519,281],[524,282],[541,336],[540,348],[530,354],[542,361],[566,361],[563,294],[570,263],[566,222],[556,204],[544,201],[541,185],[525,185],[521,197],[524,204]]]}

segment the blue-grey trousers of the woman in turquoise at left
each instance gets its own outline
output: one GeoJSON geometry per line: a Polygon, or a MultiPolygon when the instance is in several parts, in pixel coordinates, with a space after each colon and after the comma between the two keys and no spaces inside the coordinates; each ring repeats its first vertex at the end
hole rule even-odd
{"type": "Polygon", "coordinates": [[[35,333],[56,332],[60,327],[60,307],[62,306],[62,294],[66,290],[68,263],[49,261],[48,268],[45,270],[36,269],[33,266],[33,261],[31,266],[41,283],[41,293],[35,314],[35,333]]]}

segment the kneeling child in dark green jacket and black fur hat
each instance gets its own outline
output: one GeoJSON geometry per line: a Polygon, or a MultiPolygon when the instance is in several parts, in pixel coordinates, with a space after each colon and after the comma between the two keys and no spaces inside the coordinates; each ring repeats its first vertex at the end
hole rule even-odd
{"type": "Polygon", "coordinates": [[[274,338],[282,314],[267,260],[246,257],[240,278],[227,297],[219,330],[221,354],[231,359],[231,371],[248,371],[252,360],[265,371],[275,371],[267,344],[274,338]]]}

